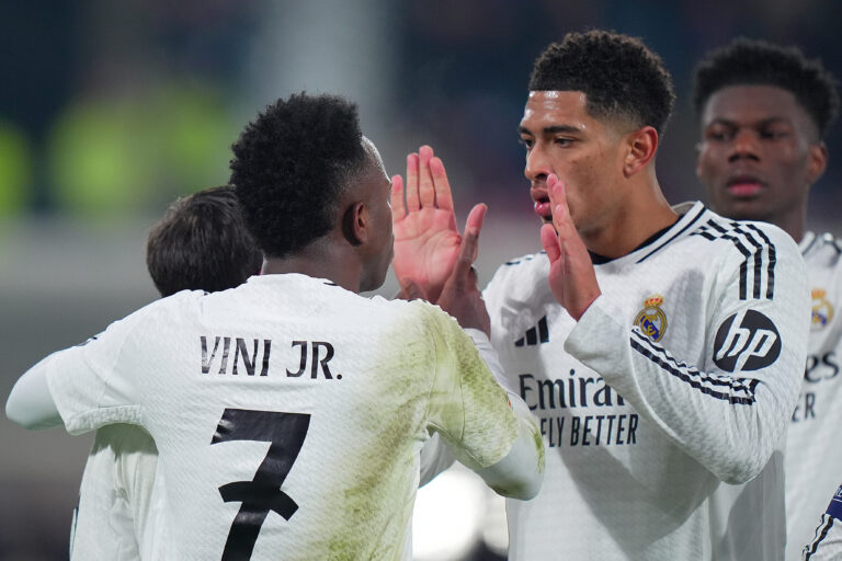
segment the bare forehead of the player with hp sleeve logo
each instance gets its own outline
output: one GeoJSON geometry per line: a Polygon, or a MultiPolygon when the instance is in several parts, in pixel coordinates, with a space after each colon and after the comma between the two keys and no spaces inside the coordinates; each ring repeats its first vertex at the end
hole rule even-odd
{"type": "Polygon", "coordinates": [[[550,126],[569,125],[577,128],[596,126],[596,119],[588,114],[588,100],[576,91],[532,91],[523,108],[521,126],[533,134],[550,126]]]}

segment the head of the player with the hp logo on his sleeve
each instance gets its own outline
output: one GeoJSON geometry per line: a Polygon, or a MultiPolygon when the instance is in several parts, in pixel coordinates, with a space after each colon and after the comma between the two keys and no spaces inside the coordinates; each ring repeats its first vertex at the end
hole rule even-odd
{"type": "Polygon", "coordinates": [[[519,127],[538,217],[551,222],[555,173],[591,251],[615,256],[600,251],[601,239],[628,238],[616,232],[639,216],[674,221],[655,175],[674,98],[663,62],[636,38],[590,31],[550,44],[535,60],[519,127]]]}

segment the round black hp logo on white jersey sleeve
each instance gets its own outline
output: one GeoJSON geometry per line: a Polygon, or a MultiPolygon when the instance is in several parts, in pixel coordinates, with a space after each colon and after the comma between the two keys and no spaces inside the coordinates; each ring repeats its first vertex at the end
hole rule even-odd
{"type": "Polygon", "coordinates": [[[714,363],[725,371],[759,370],[781,354],[781,335],[772,320],[755,310],[735,313],[719,325],[714,363]]]}

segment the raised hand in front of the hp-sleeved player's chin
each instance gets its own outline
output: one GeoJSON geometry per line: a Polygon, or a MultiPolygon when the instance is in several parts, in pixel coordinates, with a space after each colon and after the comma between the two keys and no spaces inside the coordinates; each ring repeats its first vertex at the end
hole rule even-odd
{"type": "Polygon", "coordinates": [[[570,218],[565,185],[551,173],[547,187],[553,225],[542,226],[541,242],[549,256],[549,287],[556,300],[579,321],[602,291],[588,249],[570,218]]]}

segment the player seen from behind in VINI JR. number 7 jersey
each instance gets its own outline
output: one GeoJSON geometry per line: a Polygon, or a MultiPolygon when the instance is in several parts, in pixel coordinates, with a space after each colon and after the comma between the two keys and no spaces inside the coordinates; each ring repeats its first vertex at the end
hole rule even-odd
{"type": "MultiPolygon", "coordinates": [[[[60,414],[71,433],[147,430],[166,482],[156,550],[167,559],[410,559],[431,433],[499,493],[533,496],[537,427],[456,321],[421,300],[357,294],[383,283],[392,231],[389,179],[356,107],[280,100],[234,154],[262,275],[179,293],[47,357],[15,385],[8,415],[60,414]]],[[[469,283],[482,210],[446,283],[464,297],[440,302],[487,331],[469,283]]]]}

